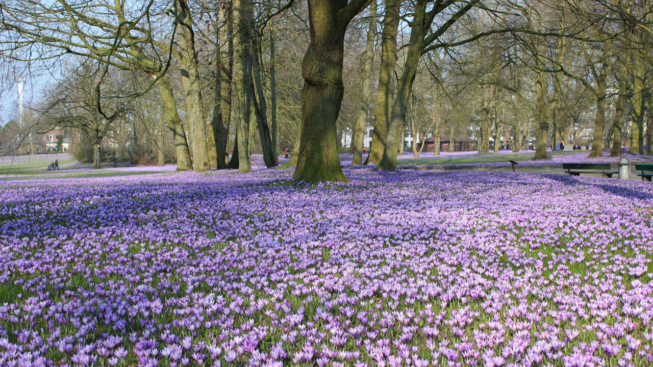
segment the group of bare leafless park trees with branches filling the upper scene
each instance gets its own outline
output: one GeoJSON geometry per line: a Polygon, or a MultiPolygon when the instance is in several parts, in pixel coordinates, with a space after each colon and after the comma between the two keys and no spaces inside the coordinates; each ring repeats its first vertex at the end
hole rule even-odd
{"type": "Polygon", "coordinates": [[[592,157],[627,143],[644,153],[653,142],[652,7],[7,0],[0,52],[3,63],[55,76],[35,109],[42,123],[86,136],[97,167],[103,139],[130,120],[159,155],[165,125],[180,170],[247,172],[255,151],[273,167],[283,142],[294,148],[296,180],[346,181],[339,150],[355,165],[392,170],[406,133],[434,136],[436,154],[443,133],[475,136],[480,152],[490,138],[495,150],[502,139],[520,150],[535,136],[535,159],[546,159],[549,144],[588,132],[592,157]]]}

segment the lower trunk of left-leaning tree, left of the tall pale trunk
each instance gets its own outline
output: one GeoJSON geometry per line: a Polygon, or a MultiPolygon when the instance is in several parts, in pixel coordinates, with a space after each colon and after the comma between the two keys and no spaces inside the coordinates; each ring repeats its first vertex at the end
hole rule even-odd
{"type": "Polygon", "coordinates": [[[168,76],[161,76],[157,81],[157,89],[161,103],[165,106],[166,126],[172,132],[172,142],[174,144],[174,154],[177,159],[177,170],[191,170],[191,152],[188,148],[186,133],[183,130],[182,119],[177,112],[177,101],[172,94],[172,87],[168,81],[168,76]]]}

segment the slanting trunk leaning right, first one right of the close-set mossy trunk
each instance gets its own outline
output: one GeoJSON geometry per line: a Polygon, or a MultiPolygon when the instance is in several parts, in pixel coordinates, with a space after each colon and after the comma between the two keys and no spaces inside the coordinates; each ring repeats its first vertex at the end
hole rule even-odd
{"type": "Polygon", "coordinates": [[[415,15],[411,27],[410,39],[408,41],[408,50],[406,52],[406,62],[404,63],[404,70],[399,80],[397,97],[392,105],[390,129],[385,139],[383,157],[381,157],[381,162],[379,162],[378,166],[378,168],[383,170],[396,170],[397,168],[397,144],[400,144],[400,134],[404,130],[408,98],[413,89],[413,82],[415,81],[415,74],[417,73],[417,66],[419,65],[419,58],[421,56],[422,40],[424,39],[425,32],[425,12],[425,1],[417,0],[415,3],[415,15]]]}

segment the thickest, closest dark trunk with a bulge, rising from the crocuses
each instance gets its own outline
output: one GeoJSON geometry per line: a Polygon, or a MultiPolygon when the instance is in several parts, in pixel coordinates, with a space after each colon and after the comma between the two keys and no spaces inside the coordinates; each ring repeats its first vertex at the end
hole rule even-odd
{"type": "Polygon", "coordinates": [[[349,182],[338,159],[336,120],[344,91],[345,31],[366,5],[355,0],[308,0],[311,42],[302,62],[302,136],[295,180],[349,182]]]}

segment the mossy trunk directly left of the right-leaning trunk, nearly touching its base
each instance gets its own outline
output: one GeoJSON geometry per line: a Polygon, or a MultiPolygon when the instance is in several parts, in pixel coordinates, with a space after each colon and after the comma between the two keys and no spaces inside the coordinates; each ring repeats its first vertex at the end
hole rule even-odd
{"type": "Polygon", "coordinates": [[[379,71],[379,88],[376,94],[374,131],[368,161],[378,164],[385,150],[390,127],[392,111],[392,94],[394,92],[394,66],[397,61],[397,29],[399,27],[400,0],[385,2],[383,33],[381,33],[381,69],[379,71]]]}

